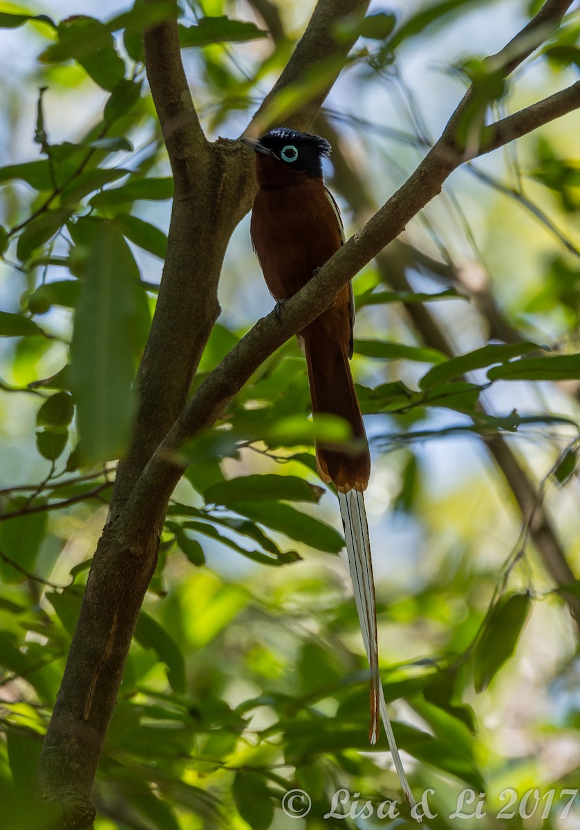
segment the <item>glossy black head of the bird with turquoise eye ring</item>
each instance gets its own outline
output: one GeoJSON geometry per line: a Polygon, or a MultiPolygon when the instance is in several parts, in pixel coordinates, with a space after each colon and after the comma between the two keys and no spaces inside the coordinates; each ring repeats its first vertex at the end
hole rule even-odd
{"type": "Polygon", "coordinates": [[[258,173],[264,163],[271,168],[274,162],[276,167],[283,164],[288,171],[322,178],[322,159],[329,156],[331,149],[328,141],[319,135],[299,133],[289,127],[275,127],[262,135],[261,139],[241,140],[256,150],[258,173]]]}

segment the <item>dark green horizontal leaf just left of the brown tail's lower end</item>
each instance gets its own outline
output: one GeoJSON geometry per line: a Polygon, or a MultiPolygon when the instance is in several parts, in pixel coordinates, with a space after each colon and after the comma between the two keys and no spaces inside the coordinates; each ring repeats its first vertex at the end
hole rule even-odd
{"type": "Polygon", "coordinates": [[[232,501],[312,501],[318,502],[324,488],[296,476],[239,476],[220,481],[205,492],[207,504],[231,505],[232,501]]]}

